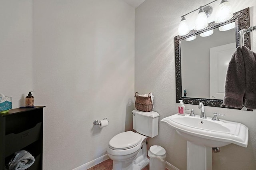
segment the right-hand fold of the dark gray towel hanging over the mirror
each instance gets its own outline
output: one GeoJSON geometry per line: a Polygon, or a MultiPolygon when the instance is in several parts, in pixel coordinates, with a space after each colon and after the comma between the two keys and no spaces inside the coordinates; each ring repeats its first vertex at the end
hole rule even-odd
{"type": "Polygon", "coordinates": [[[244,57],[246,89],[243,104],[248,109],[256,109],[256,53],[242,46],[244,57]]]}

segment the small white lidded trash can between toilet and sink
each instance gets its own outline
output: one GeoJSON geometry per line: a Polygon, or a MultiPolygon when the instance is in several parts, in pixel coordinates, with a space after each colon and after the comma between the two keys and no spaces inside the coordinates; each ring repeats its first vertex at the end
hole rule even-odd
{"type": "Polygon", "coordinates": [[[165,170],[166,151],[158,145],[153,145],[148,150],[149,169],[165,170]]]}

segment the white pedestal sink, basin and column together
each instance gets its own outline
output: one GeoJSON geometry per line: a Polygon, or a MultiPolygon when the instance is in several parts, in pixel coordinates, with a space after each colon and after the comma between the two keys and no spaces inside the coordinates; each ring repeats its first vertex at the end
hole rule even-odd
{"type": "Polygon", "coordinates": [[[161,120],[187,140],[187,170],[211,170],[212,148],[230,143],[247,147],[248,128],[231,121],[212,121],[178,114],[161,120]]]}

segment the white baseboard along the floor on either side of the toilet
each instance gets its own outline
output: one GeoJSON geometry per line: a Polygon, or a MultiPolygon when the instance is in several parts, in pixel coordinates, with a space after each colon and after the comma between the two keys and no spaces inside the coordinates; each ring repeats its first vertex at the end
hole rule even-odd
{"type": "MultiPolygon", "coordinates": [[[[101,162],[103,162],[104,160],[109,159],[108,154],[105,154],[103,156],[100,156],[100,158],[94,159],[86,164],[83,164],[81,166],[78,166],[77,168],[74,168],[73,170],[87,170],[89,168],[92,168],[92,166],[95,166],[101,162]]],[[[169,162],[166,161],[166,168],[168,170],[179,170],[178,168],[176,168],[175,166],[173,166],[172,164],[170,164],[169,162]]]]}

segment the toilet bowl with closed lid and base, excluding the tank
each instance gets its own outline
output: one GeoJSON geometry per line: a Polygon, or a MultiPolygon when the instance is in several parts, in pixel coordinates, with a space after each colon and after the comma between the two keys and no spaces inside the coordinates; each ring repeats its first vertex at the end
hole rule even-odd
{"type": "Polygon", "coordinates": [[[113,170],[140,170],[147,166],[147,138],[132,131],[114,136],[107,148],[108,156],[113,160],[113,170]]]}

